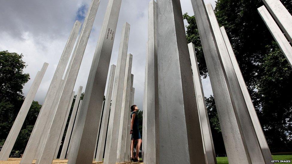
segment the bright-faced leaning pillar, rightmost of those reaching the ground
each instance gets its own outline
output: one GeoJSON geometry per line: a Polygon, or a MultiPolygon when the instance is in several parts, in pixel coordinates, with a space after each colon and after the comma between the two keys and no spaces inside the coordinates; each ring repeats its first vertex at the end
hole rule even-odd
{"type": "Polygon", "coordinates": [[[250,117],[252,119],[253,126],[255,128],[255,133],[256,133],[256,135],[258,137],[258,141],[259,141],[259,144],[261,146],[261,151],[263,153],[264,160],[265,160],[266,163],[270,163],[271,160],[273,160],[273,158],[272,158],[269,146],[267,144],[267,140],[266,140],[266,138],[264,136],[263,129],[261,128],[261,124],[260,124],[260,122],[258,120],[258,116],[257,116],[257,114],[255,112],[255,108],[253,106],[253,101],[250,98],[250,94],[248,93],[247,87],[245,85],[245,82],[244,82],[243,76],[241,74],[241,70],[239,68],[239,65],[237,63],[235,54],[234,54],[234,52],[232,50],[232,46],[231,46],[230,41],[228,39],[227,33],[226,33],[224,27],[220,27],[220,30],[221,30],[223,39],[225,41],[225,45],[226,45],[227,50],[228,50],[230,60],[232,62],[233,68],[235,70],[235,74],[236,74],[236,76],[238,78],[238,82],[239,82],[239,85],[240,85],[240,88],[241,88],[241,92],[242,92],[242,94],[244,96],[244,100],[245,100],[245,102],[247,104],[247,108],[248,108],[250,117]]]}

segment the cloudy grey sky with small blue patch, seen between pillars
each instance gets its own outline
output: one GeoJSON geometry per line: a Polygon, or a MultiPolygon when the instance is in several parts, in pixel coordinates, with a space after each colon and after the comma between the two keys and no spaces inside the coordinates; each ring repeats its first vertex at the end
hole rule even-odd
{"type": "MultiPolygon", "coordinates": [[[[44,62],[49,63],[35,97],[35,100],[42,104],[73,24],[75,20],[83,22],[91,0],[0,0],[0,2],[0,51],[8,50],[23,54],[23,60],[28,65],[24,72],[31,76],[31,80],[23,89],[25,96],[37,71],[42,68],[44,62]]],[[[133,54],[134,103],[141,110],[143,109],[148,2],[149,0],[122,1],[110,60],[110,65],[116,65],[121,29],[123,24],[128,22],[131,25],[128,53],[133,54]]],[[[212,3],[215,7],[215,0],[205,0],[205,2],[212,3]]],[[[74,87],[76,92],[80,85],[83,86],[83,91],[85,90],[107,3],[108,0],[100,1],[74,87]]],[[[182,13],[194,14],[190,0],[181,0],[181,5],[182,13]]],[[[203,80],[203,89],[205,96],[209,97],[212,94],[209,79],[203,80]]]]}

